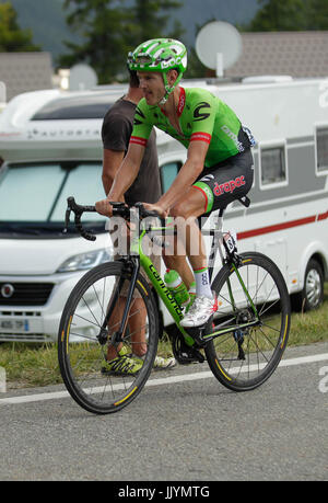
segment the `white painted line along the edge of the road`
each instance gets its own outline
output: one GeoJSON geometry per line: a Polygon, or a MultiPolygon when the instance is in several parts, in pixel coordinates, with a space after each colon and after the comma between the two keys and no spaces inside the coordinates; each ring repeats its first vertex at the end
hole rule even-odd
{"type": "MultiPolygon", "coordinates": [[[[293,365],[304,365],[308,363],[314,363],[314,362],[324,362],[328,359],[328,353],[323,353],[318,355],[311,355],[311,356],[300,356],[297,358],[286,358],[282,359],[279,364],[279,367],[290,367],[293,365]]],[[[257,365],[254,366],[255,369],[258,368],[257,365]]],[[[244,371],[248,371],[249,367],[245,366],[244,371]]],[[[251,370],[251,368],[250,368],[251,370]]],[[[230,374],[234,374],[239,371],[239,367],[232,368],[230,370],[230,374]]],[[[184,374],[180,376],[169,376],[169,377],[163,377],[163,378],[155,378],[155,379],[149,379],[148,382],[145,384],[145,387],[149,386],[162,386],[162,385],[171,385],[175,382],[183,382],[183,381],[188,381],[188,380],[199,380],[199,379],[208,379],[210,377],[213,377],[213,374],[211,370],[206,370],[206,371],[198,371],[194,374],[184,374]]],[[[128,387],[129,384],[126,382],[125,386],[122,385],[116,385],[115,389],[124,389],[128,387]]],[[[99,388],[94,388],[92,392],[99,392],[103,390],[103,387],[99,388]]],[[[28,403],[28,402],[37,402],[37,401],[44,401],[44,400],[56,400],[56,399],[61,399],[70,397],[68,391],[54,391],[54,392],[46,392],[46,393],[37,393],[37,395],[24,395],[20,397],[9,397],[9,398],[1,398],[0,399],[0,405],[1,404],[17,404],[17,403],[28,403]]]]}

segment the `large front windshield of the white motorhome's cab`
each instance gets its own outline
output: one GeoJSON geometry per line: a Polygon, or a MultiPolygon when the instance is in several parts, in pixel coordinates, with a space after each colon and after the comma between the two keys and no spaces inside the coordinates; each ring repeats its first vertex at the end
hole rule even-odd
{"type": "MultiPolygon", "coordinates": [[[[4,165],[0,171],[0,232],[61,230],[71,195],[78,203],[91,205],[104,197],[101,162],[4,165]]],[[[83,224],[102,231],[105,219],[90,213],[83,216],[83,224]]]]}

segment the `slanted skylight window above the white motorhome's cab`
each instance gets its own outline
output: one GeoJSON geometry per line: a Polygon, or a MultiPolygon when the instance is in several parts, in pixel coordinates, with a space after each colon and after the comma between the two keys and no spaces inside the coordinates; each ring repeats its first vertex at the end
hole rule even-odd
{"type": "Polygon", "coordinates": [[[59,98],[43,106],[32,121],[103,118],[117,98],[108,94],[59,98]]]}

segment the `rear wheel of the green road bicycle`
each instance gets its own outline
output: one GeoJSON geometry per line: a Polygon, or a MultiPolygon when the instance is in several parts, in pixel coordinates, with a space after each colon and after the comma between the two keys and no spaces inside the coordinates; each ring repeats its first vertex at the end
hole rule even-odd
{"type": "MultiPolygon", "coordinates": [[[[268,256],[257,252],[239,256],[238,272],[257,306],[259,323],[219,335],[208,342],[204,351],[213,375],[223,386],[233,391],[248,391],[262,385],[279,365],[289,339],[291,304],[284,278],[268,256]]],[[[212,284],[219,302],[215,330],[256,319],[239,285],[229,264],[215,276],[212,284]],[[234,291],[235,307],[229,296],[227,279],[234,291]]]]}

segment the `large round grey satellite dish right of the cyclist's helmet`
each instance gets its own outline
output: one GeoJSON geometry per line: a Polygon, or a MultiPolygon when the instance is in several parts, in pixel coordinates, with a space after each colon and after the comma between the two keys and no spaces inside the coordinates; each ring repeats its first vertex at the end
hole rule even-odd
{"type": "Polygon", "coordinates": [[[239,32],[230,23],[213,21],[206,24],[196,38],[196,53],[208,68],[216,70],[216,77],[234,65],[242,55],[243,42],[239,32]]]}

